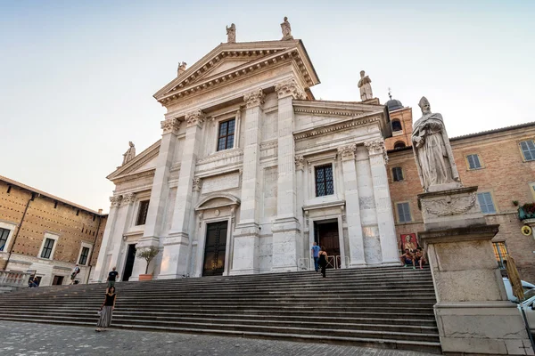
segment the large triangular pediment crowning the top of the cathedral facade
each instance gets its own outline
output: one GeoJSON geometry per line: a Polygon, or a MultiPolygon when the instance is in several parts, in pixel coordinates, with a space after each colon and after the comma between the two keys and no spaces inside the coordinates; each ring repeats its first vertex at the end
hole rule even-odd
{"type": "Polygon", "coordinates": [[[295,61],[303,81],[317,85],[319,79],[300,40],[219,44],[180,76],[161,88],[154,98],[173,101],[210,87],[223,85],[236,77],[251,75],[281,61],[295,61]]]}

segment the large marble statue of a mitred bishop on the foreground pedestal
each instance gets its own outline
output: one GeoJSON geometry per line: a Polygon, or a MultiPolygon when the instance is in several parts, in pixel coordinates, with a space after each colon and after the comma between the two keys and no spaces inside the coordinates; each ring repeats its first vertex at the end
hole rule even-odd
{"type": "Polygon", "coordinates": [[[424,96],[418,106],[423,116],[414,125],[411,141],[424,191],[462,187],[442,115],[431,112],[424,96]]]}

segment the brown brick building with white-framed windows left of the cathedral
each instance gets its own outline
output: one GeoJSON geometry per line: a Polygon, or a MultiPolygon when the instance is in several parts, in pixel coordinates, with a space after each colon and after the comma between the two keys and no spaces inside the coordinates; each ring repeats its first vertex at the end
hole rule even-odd
{"type": "Polygon", "coordinates": [[[0,270],[35,271],[41,286],[86,283],[107,214],[0,176],[0,270]]]}

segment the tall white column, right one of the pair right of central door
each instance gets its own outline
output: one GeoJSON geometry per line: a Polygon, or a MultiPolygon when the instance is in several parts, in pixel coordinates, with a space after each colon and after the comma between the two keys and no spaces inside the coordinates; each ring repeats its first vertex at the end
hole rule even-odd
{"type": "Polygon", "coordinates": [[[277,217],[273,224],[273,271],[297,271],[300,224],[296,211],[292,100],[305,99],[295,79],[275,86],[278,95],[277,217]]]}

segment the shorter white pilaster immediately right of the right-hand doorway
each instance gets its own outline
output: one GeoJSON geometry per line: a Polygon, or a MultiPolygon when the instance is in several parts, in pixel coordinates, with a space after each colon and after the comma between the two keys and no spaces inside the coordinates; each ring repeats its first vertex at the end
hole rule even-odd
{"type": "Polygon", "coordinates": [[[350,246],[349,267],[366,265],[362,224],[360,223],[355,150],[357,150],[355,143],[338,148],[338,154],[342,158],[343,186],[346,201],[345,214],[350,246]]]}

